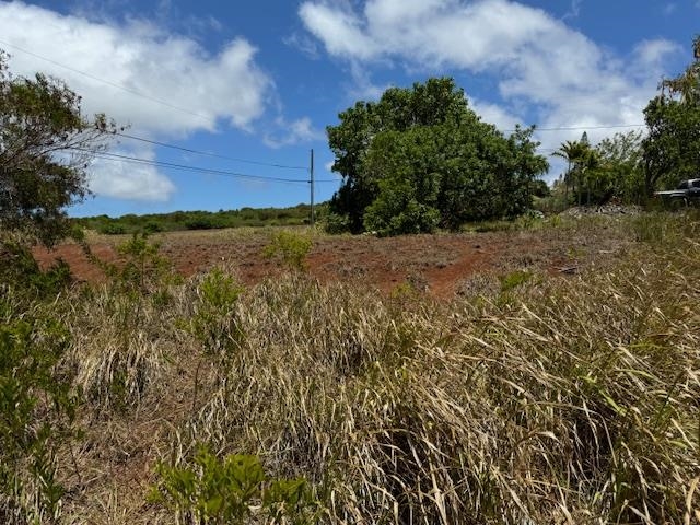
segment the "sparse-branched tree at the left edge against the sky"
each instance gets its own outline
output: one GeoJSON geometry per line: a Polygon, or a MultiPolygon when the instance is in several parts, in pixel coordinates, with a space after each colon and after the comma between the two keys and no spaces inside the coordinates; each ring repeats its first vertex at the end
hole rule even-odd
{"type": "MultiPolygon", "coordinates": [[[[46,246],[66,236],[66,207],[88,194],[86,167],[114,124],[89,120],[63,82],[13,77],[0,51],[0,232],[46,246]]],[[[1,241],[1,240],[0,240],[1,241]]]]}

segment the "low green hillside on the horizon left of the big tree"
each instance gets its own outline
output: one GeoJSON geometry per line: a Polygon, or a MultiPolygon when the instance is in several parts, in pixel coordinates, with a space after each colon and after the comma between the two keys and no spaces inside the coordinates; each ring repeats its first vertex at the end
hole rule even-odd
{"type": "MultiPolygon", "coordinates": [[[[324,214],[326,205],[316,207],[316,217],[324,214]]],[[[240,210],[174,211],[147,215],[128,214],[118,218],[107,215],[75,219],[83,228],[104,234],[137,232],[174,232],[182,230],[213,230],[241,226],[293,226],[308,224],[308,205],[291,208],[241,208],[240,210]]]]}

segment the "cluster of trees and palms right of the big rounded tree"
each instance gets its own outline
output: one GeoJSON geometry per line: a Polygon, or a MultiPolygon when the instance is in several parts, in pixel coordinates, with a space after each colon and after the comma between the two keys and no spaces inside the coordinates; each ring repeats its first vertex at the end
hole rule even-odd
{"type": "Polygon", "coordinates": [[[553,184],[564,206],[612,198],[642,205],[657,189],[700,177],[700,37],[692,48],[690,66],[662,81],[644,108],[645,131],[615,133],[596,145],[584,132],[552,154],[567,162],[553,184]]]}

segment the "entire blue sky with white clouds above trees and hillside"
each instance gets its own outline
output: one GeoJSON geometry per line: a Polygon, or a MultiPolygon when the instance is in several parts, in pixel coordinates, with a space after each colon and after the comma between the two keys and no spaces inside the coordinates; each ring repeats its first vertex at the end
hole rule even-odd
{"type": "Polygon", "coordinates": [[[114,141],[147,162],[96,159],[95,197],[70,210],[119,215],[307,202],[311,149],[326,200],[339,178],[325,127],[432,75],[503,130],[537,124],[544,154],[584,129],[640,129],[699,21],[700,0],[0,0],[0,48],[13,73],[59,77],[145,139],[114,141]]]}

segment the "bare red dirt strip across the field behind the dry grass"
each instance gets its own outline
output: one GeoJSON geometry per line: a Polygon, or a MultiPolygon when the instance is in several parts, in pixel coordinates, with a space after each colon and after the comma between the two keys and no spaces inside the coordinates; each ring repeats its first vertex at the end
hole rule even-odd
{"type": "MultiPolygon", "coordinates": [[[[269,242],[264,232],[241,234],[235,230],[219,232],[177,232],[162,234],[161,254],[187,277],[217,264],[236,268],[246,284],[253,284],[281,271],[275,261],[266,260],[261,250],[269,242]]],[[[115,261],[114,246],[124,237],[101,237],[91,243],[93,253],[103,260],[115,261]]],[[[439,298],[454,295],[466,279],[479,272],[504,273],[532,268],[559,273],[562,267],[581,267],[600,253],[614,255],[622,248],[618,240],[596,240],[596,248],[586,248],[590,238],[569,237],[556,232],[495,232],[436,235],[408,235],[390,238],[371,236],[328,236],[314,241],[306,258],[310,272],[320,281],[358,282],[384,292],[404,282],[439,298]],[[615,242],[610,246],[610,242],[615,242]],[[600,244],[603,243],[603,244],[600,244]],[[593,253],[595,252],[595,253],[593,253]]],[[[37,248],[35,257],[43,267],[57,258],[71,266],[81,281],[100,282],[104,273],[91,264],[81,248],[72,244],[54,250],[37,248]]]]}

